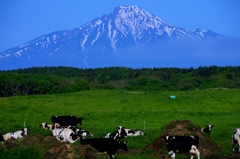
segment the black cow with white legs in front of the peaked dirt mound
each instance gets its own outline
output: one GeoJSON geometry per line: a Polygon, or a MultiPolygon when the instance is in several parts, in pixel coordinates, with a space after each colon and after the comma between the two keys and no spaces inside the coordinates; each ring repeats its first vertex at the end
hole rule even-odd
{"type": "Polygon", "coordinates": [[[198,136],[165,136],[162,140],[165,140],[168,154],[171,155],[172,159],[175,159],[176,152],[189,152],[191,159],[193,159],[194,154],[197,154],[198,159],[200,159],[198,136]]]}

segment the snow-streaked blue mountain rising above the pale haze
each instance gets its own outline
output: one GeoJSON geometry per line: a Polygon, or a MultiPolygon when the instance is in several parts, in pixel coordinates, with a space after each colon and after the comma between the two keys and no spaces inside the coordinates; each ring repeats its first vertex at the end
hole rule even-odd
{"type": "MultiPolygon", "coordinates": [[[[189,37],[195,40],[220,36],[211,30],[187,30],[173,26],[138,6],[120,6],[73,30],[56,31],[38,37],[24,45],[0,53],[4,63],[38,63],[44,66],[61,65],[61,58],[74,60],[79,67],[91,59],[107,57],[129,46],[143,46],[166,39],[189,37]],[[112,51],[112,53],[106,53],[112,51]],[[35,62],[33,62],[35,61],[35,62]],[[57,62],[58,61],[58,62],[57,62]]],[[[113,57],[114,58],[114,57],[113,57]]]]}

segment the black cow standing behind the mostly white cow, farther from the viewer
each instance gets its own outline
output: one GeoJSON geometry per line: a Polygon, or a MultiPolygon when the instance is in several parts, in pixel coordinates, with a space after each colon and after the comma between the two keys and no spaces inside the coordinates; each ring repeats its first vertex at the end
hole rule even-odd
{"type": "Polygon", "coordinates": [[[52,127],[54,129],[56,123],[59,123],[60,126],[66,126],[66,127],[69,125],[76,126],[78,123],[82,125],[82,121],[84,119],[77,118],[72,115],[68,115],[68,116],[52,116],[51,120],[52,120],[52,127]]]}

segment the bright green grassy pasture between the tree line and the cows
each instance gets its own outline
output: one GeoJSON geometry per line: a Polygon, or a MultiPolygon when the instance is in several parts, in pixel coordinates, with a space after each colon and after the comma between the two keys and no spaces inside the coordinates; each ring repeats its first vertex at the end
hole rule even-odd
{"type": "Polygon", "coordinates": [[[81,127],[94,137],[115,132],[117,126],[138,129],[147,136],[128,137],[129,148],[141,149],[159,137],[168,123],[191,120],[195,125],[215,125],[211,137],[226,153],[232,133],[240,127],[240,90],[147,91],[90,90],[69,94],[0,98],[0,132],[26,127],[29,134],[51,134],[39,126],[51,116],[83,117],[81,127]],[[176,99],[169,99],[176,95],[176,99]],[[145,130],[144,130],[145,122],[145,130]]]}

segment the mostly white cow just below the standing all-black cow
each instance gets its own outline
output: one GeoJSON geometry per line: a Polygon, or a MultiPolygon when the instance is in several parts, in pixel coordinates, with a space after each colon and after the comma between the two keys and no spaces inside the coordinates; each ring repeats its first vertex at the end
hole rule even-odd
{"type": "Polygon", "coordinates": [[[79,136],[77,136],[77,134],[69,128],[60,128],[60,129],[54,129],[53,133],[56,137],[56,139],[60,142],[70,142],[70,143],[74,143],[76,141],[78,141],[80,139],[79,136]]]}

